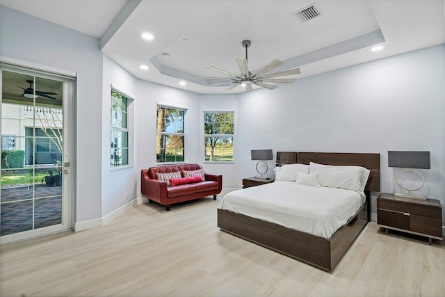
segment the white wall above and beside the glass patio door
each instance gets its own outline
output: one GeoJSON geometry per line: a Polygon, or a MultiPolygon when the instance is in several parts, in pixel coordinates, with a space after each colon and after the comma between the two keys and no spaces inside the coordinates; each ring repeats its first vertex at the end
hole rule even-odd
{"type": "Polygon", "coordinates": [[[77,72],[76,221],[102,216],[102,53],[99,40],[0,6],[0,56],[77,72]]]}

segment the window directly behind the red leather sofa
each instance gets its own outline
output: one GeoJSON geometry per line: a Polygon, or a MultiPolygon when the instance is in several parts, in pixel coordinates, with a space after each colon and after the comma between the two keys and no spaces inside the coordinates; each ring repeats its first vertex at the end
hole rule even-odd
{"type": "Polygon", "coordinates": [[[184,162],[184,109],[157,106],[156,162],[184,162]]]}

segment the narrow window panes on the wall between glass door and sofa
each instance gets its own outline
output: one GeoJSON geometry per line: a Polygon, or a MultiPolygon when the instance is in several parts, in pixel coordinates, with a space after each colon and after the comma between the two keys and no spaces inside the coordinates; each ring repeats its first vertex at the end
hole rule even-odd
{"type": "Polygon", "coordinates": [[[131,99],[111,90],[111,167],[129,165],[129,104],[131,99]]]}

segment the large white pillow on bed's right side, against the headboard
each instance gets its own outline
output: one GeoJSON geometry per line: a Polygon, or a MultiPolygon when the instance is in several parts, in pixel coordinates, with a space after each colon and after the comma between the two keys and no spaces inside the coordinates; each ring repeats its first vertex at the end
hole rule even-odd
{"type": "Polygon", "coordinates": [[[332,166],[314,162],[309,163],[310,172],[320,173],[320,186],[346,188],[362,193],[370,171],[361,166],[332,166]]]}

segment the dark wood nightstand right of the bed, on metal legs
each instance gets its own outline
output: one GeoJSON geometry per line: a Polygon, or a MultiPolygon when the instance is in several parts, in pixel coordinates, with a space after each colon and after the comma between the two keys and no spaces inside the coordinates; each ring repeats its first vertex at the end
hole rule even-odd
{"type": "Polygon", "coordinates": [[[442,207],[439,200],[398,198],[381,193],[377,198],[377,225],[442,240],[442,207]]]}

